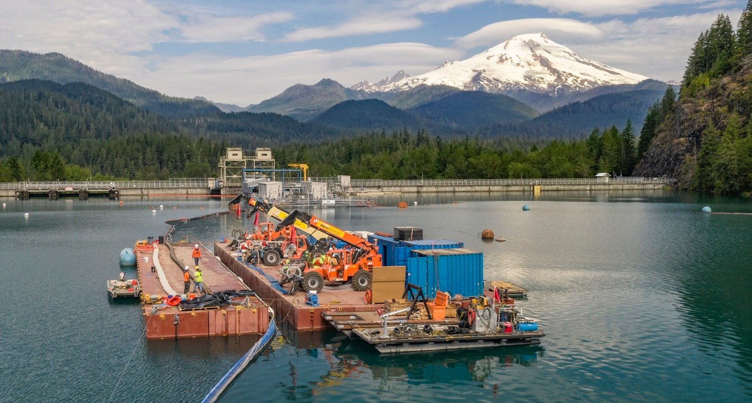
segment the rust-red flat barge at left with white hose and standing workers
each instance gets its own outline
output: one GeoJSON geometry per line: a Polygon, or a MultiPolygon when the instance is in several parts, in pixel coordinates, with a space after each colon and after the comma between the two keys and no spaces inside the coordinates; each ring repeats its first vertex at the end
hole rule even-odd
{"type": "MultiPolygon", "coordinates": [[[[183,262],[178,265],[163,244],[137,245],[136,266],[141,283],[141,304],[147,339],[196,338],[208,336],[247,335],[263,333],[269,326],[269,309],[255,295],[231,298],[225,307],[183,309],[180,305],[162,305],[162,297],[168,292],[159,281],[159,271],[152,271],[154,256],[162,267],[165,280],[176,293],[183,292],[183,267],[188,265],[193,277],[193,244],[172,245],[174,256],[183,262]]],[[[247,290],[248,287],[229,269],[202,247],[199,260],[206,292],[247,290]]],[[[193,288],[193,285],[191,286],[193,288]]]]}

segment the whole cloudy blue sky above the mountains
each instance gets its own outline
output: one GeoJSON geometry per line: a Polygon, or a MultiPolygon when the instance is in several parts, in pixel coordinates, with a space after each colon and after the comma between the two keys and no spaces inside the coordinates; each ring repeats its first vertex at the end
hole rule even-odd
{"type": "Polygon", "coordinates": [[[59,52],[168,95],[247,105],[327,77],[416,75],[544,32],[598,62],[681,80],[732,0],[14,0],[0,48],[59,52]]]}

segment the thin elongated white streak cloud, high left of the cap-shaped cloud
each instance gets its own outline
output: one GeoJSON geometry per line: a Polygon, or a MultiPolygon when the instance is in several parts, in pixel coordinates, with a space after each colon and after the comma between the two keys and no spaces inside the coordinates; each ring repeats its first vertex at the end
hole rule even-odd
{"type": "Polygon", "coordinates": [[[335,26],[317,26],[302,28],[287,34],[282,41],[297,42],[311,39],[337,38],[350,35],[364,35],[382,32],[414,29],[422,25],[420,20],[412,17],[374,16],[360,17],[335,26]]]}

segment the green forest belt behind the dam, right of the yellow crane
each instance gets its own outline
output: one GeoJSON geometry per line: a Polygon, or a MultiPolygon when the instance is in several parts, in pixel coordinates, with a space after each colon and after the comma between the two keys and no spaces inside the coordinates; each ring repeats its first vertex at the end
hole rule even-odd
{"type": "Polygon", "coordinates": [[[635,164],[631,123],[595,129],[584,140],[432,137],[419,130],[375,132],[274,149],[278,162],[305,162],[311,176],[350,174],[381,179],[493,179],[629,175],[635,164]],[[326,156],[326,158],[321,158],[326,156]]]}

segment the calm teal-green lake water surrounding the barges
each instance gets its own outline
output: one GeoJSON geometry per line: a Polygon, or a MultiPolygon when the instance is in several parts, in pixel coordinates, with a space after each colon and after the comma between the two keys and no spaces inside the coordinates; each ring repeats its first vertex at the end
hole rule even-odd
{"type": "MultiPolygon", "coordinates": [[[[699,213],[752,213],[749,201],[661,192],[377,198],[402,200],[411,207],[311,212],[345,229],[418,226],[425,238],[483,252],[487,278],[529,289],[518,305],[538,318],[542,344],[382,357],[336,332],[284,330],[222,401],[752,400],[752,215],[699,213]],[[486,228],[508,241],[481,241],[486,228]]],[[[112,401],[199,401],[255,341],[144,340],[138,305],[105,292],[120,250],[164,233],[165,220],[223,211],[226,201],[123,201],[0,199],[0,401],[108,401],[114,390],[112,401]]],[[[234,216],[214,217],[176,236],[212,241],[235,226],[234,216]]]]}

